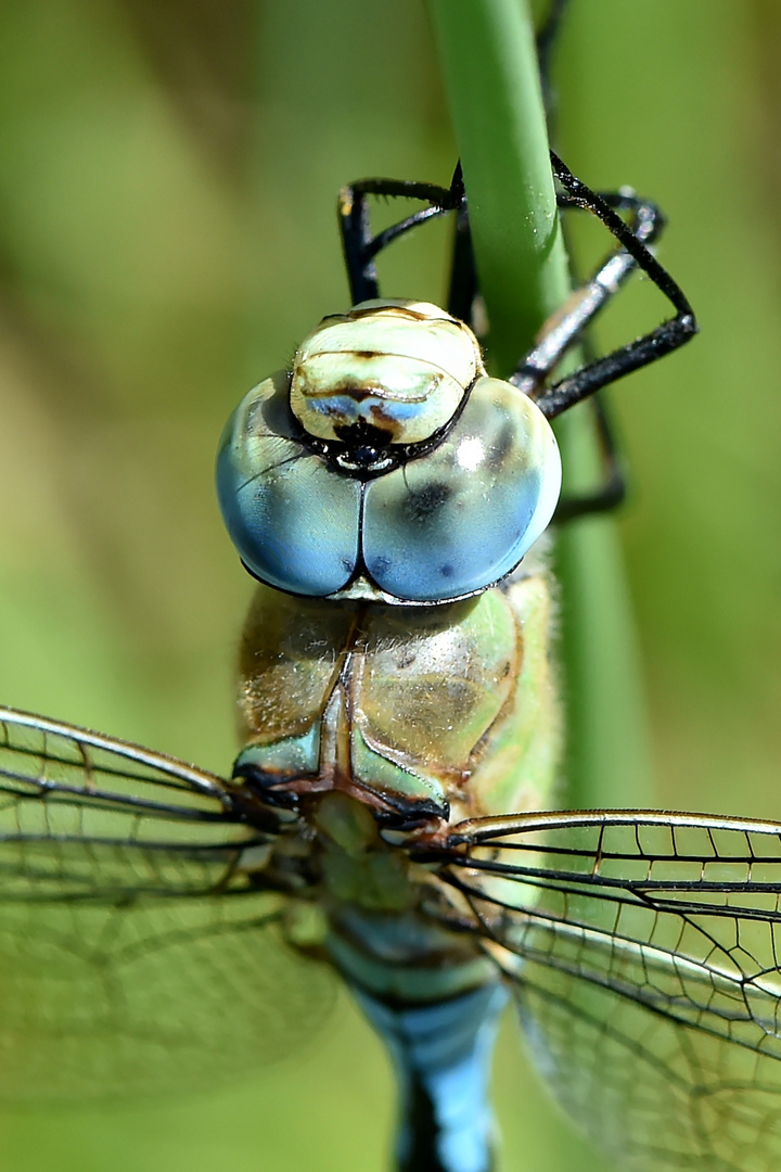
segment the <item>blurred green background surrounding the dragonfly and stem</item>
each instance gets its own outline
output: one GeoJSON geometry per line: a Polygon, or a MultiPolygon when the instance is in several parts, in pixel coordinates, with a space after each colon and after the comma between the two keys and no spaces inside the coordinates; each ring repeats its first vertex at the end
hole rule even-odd
{"type": "MultiPolygon", "coordinates": [[[[562,155],[665,207],[662,257],[703,328],[615,396],[658,804],[772,818],[780,40],[774,0],[573,0],[557,59],[562,155]]],[[[240,395],[347,306],[340,185],[445,183],[453,159],[420,0],[0,6],[5,702],[228,768],[251,582],[213,502],[217,440],[240,395]]],[[[440,298],[444,243],[402,244],[385,292],[440,298]]],[[[662,312],[629,295],[602,341],[662,312]]],[[[512,1028],[496,1082],[507,1172],[585,1167],[512,1028]]],[[[7,1112],[0,1166],[365,1172],[386,1165],[391,1116],[385,1059],[343,1004],[251,1084],[7,1112]]]]}

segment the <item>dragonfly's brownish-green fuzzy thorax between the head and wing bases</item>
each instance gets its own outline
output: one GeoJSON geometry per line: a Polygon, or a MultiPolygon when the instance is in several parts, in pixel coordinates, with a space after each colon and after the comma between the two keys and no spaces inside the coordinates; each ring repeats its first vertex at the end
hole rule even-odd
{"type": "Polygon", "coordinates": [[[260,587],[245,628],[239,758],[297,795],[458,820],[552,804],[559,717],[549,577],[437,607],[260,587]]]}

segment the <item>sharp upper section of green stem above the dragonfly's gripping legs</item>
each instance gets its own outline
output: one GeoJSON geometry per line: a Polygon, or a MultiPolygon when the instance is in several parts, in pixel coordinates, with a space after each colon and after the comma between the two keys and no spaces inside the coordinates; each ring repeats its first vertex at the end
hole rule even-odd
{"type": "Polygon", "coordinates": [[[431,0],[431,11],[488,307],[487,357],[506,376],[569,289],[534,28],[519,0],[431,0]]]}

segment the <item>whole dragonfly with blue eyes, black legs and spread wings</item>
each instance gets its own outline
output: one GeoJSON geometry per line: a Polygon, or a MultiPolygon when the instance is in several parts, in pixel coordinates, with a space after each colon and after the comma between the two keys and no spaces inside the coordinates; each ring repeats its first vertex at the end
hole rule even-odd
{"type": "Polygon", "coordinates": [[[229,777],[0,709],[0,1093],[82,1101],[289,1054],[341,980],[393,1059],[406,1172],[487,1172],[496,1022],[518,1007],[573,1118],[628,1168],[777,1163],[781,824],[552,811],[549,421],[686,342],[662,216],[552,156],[615,243],[492,379],[460,170],[340,198],[352,308],[239,404],[222,513],[258,592],[229,777]],[[422,207],[372,233],[374,197],[422,207]],[[378,254],[452,214],[447,308],[381,295],[378,254]],[[556,368],[637,270],[673,315],[556,368]],[[512,811],[512,812],[511,812],[512,811]]]}

